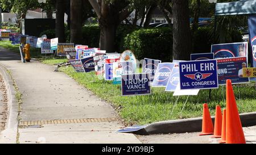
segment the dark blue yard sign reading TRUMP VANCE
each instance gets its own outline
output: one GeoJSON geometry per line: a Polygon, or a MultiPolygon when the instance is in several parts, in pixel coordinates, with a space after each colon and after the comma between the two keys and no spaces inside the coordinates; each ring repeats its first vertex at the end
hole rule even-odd
{"type": "Polygon", "coordinates": [[[149,95],[150,74],[125,74],[122,75],[122,96],[149,95]]]}

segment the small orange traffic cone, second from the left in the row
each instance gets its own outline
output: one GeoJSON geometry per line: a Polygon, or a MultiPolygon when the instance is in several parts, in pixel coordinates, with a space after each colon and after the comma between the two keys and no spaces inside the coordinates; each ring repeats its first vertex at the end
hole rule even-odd
{"type": "Polygon", "coordinates": [[[214,134],[211,138],[220,138],[221,137],[221,123],[222,123],[221,115],[222,115],[221,107],[216,106],[215,120],[214,120],[214,134]]]}

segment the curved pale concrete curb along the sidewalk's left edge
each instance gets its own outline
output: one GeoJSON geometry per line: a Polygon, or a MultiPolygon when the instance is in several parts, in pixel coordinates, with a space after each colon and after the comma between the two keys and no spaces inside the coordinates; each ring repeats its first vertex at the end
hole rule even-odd
{"type": "Polygon", "coordinates": [[[5,81],[8,98],[8,117],[6,120],[6,129],[0,133],[0,143],[16,143],[18,131],[18,102],[15,99],[14,83],[6,69],[0,65],[0,74],[2,74],[5,81]]]}

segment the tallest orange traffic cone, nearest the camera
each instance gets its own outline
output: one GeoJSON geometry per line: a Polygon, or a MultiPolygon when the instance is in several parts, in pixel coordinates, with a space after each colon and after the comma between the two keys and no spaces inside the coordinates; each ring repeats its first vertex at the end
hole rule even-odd
{"type": "Polygon", "coordinates": [[[240,116],[237,110],[237,103],[234,97],[232,82],[226,80],[226,143],[227,144],[245,144],[245,135],[240,116]]]}

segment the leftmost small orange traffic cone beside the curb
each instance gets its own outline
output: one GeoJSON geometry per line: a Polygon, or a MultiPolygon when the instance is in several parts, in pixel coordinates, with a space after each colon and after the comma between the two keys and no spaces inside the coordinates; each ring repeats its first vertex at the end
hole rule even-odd
{"type": "Polygon", "coordinates": [[[204,103],[203,106],[204,106],[204,110],[203,110],[202,132],[200,133],[199,136],[212,135],[213,134],[212,118],[210,118],[210,112],[209,112],[207,103],[204,103]]]}

